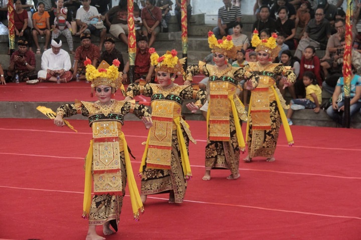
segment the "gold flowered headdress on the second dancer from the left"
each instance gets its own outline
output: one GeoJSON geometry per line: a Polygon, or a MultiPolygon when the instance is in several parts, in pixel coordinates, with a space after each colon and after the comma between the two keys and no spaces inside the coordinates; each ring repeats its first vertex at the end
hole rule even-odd
{"type": "Polygon", "coordinates": [[[167,73],[174,73],[178,76],[184,75],[183,65],[186,58],[178,59],[176,56],[178,53],[173,49],[171,52],[167,51],[163,56],[155,52],[154,48],[149,49],[150,64],[155,66],[155,72],[164,71],[167,73]]]}

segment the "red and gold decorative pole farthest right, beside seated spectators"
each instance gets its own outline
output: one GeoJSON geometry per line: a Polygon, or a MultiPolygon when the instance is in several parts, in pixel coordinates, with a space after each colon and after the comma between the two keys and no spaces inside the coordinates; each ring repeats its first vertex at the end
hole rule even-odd
{"type": "Polygon", "coordinates": [[[352,0],[347,0],[345,49],[343,54],[343,91],[344,91],[344,126],[350,127],[350,88],[351,88],[351,58],[352,58],[352,0]]]}

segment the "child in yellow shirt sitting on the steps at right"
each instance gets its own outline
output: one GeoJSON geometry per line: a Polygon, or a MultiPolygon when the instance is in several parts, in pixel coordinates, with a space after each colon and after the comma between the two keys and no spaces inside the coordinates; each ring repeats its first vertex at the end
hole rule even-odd
{"type": "Polygon", "coordinates": [[[290,109],[287,110],[287,121],[292,125],[291,117],[293,110],[313,109],[315,113],[320,111],[320,103],[322,101],[322,90],[317,85],[316,77],[312,72],[303,73],[303,84],[305,85],[306,98],[292,99],[290,109]]]}

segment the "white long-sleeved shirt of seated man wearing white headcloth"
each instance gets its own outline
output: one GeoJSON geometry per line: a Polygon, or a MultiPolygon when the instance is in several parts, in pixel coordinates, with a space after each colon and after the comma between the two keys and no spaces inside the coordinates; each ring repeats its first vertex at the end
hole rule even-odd
{"type": "Polygon", "coordinates": [[[41,66],[44,71],[47,71],[47,69],[69,71],[71,68],[70,56],[63,49],[60,49],[59,53],[55,55],[50,48],[43,53],[41,66]]]}

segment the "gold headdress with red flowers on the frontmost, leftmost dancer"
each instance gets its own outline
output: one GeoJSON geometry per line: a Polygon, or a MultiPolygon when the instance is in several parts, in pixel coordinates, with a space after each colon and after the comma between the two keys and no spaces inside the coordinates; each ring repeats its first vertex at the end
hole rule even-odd
{"type": "Polygon", "coordinates": [[[114,59],[112,66],[109,66],[104,60],[99,64],[98,69],[96,69],[92,64],[90,59],[84,61],[86,68],[85,77],[91,82],[92,92],[97,86],[106,85],[112,88],[112,93],[115,93],[117,89],[124,90],[123,84],[121,83],[122,76],[118,71],[120,62],[118,59],[114,59]]]}

